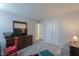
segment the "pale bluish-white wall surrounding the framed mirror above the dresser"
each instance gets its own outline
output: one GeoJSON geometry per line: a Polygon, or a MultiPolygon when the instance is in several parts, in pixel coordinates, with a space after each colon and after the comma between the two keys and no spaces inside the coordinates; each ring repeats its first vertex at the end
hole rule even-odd
{"type": "Polygon", "coordinates": [[[33,19],[22,18],[19,17],[18,15],[0,10],[0,41],[1,41],[1,45],[3,45],[4,47],[5,47],[4,44],[5,40],[1,36],[5,32],[13,32],[13,20],[27,22],[28,35],[33,35],[33,38],[35,36],[34,34],[35,21],[33,19]]]}

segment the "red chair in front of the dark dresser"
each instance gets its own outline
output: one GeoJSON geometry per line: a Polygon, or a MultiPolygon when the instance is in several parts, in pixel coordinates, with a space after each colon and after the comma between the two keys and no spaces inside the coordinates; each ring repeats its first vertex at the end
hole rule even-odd
{"type": "Polygon", "coordinates": [[[9,56],[12,53],[15,53],[17,55],[18,42],[19,42],[19,38],[18,37],[14,37],[14,45],[4,49],[5,56],[9,56]]]}

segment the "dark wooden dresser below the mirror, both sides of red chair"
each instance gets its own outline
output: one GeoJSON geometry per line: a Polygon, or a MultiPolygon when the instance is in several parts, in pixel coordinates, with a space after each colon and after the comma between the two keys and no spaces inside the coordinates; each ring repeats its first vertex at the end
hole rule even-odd
{"type": "MultiPolygon", "coordinates": [[[[28,47],[28,46],[32,45],[32,43],[33,43],[32,35],[19,36],[19,38],[20,38],[20,40],[19,40],[19,44],[18,44],[18,50],[28,47]]],[[[14,44],[13,38],[6,39],[6,47],[9,47],[13,44],[14,44]]]]}

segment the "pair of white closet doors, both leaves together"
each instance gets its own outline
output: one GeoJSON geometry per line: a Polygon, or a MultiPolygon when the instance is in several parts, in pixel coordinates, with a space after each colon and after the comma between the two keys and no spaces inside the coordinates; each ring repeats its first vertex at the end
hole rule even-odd
{"type": "Polygon", "coordinates": [[[60,40],[59,23],[56,19],[46,22],[46,41],[51,44],[59,45],[60,40]]]}

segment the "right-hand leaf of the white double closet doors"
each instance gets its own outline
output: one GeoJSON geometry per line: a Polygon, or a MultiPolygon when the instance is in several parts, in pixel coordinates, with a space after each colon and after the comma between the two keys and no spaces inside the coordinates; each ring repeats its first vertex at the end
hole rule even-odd
{"type": "Polygon", "coordinates": [[[59,23],[57,20],[54,20],[52,25],[52,42],[55,45],[59,45],[59,32],[59,23]]]}

